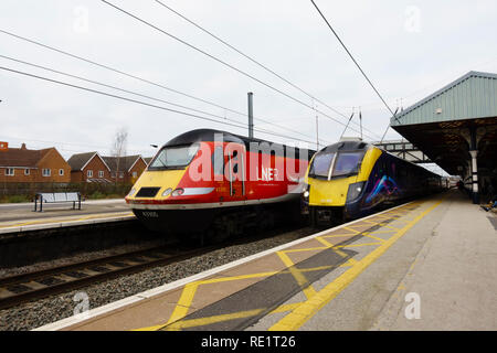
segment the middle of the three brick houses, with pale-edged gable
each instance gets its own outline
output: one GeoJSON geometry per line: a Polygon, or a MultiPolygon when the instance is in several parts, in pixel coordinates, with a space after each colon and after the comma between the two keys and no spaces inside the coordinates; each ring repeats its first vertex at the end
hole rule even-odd
{"type": "Polygon", "coordinates": [[[110,168],[98,152],[76,153],[71,156],[71,182],[112,183],[110,168]]]}

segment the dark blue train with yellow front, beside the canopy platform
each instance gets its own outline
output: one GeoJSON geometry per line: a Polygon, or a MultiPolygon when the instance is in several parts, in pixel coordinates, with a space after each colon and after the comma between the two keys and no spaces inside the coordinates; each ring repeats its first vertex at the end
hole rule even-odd
{"type": "Polygon", "coordinates": [[[361,140],[317,152],[306,173],[303,213],[314,226],[357,218],[442,189],[441,176],[361,140]]]}

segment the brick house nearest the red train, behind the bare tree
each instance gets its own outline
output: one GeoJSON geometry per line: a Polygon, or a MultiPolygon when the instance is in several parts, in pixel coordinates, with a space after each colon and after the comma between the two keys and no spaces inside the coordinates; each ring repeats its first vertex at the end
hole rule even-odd
{"type": "Polygon", "coordinates": [[[110,168],[110,178],[114,182],[117,180],[117,182],[134,184],[147,168],[147,162],[139,154],[120,158],[103,157],[103,159],[110,168]]]}

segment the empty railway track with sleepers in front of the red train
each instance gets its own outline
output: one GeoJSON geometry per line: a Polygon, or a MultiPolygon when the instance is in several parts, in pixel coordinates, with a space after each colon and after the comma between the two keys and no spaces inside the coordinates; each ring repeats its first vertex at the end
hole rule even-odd
{"type": "Polygon", "coordinates": [[[161,246],[0,278],[0,309],[150,267],[173,264],[216,248],[219,245],[186,250],[161,246]]]}

